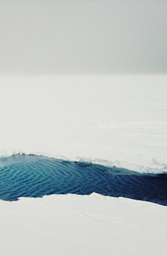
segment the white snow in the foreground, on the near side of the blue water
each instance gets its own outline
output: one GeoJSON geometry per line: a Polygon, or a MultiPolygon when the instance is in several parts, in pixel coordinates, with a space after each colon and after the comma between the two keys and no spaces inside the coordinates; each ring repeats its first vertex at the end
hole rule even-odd
{"type": "Polygon", "coordinates": [[[2,256],[166,256],[167,208],[92,194],[2,202],[2,256]]]}

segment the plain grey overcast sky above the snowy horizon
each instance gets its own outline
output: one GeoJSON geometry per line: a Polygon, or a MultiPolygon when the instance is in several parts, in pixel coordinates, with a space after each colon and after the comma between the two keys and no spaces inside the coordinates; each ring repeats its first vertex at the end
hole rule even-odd
{"type": "Polygon", "coordinates": [[[166,0],[0,0],[0,74],[167,73],[166,0]]]}

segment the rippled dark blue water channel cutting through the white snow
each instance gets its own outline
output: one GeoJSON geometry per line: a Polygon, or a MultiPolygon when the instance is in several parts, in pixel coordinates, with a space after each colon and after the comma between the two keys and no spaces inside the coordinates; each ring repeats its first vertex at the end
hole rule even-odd
{"type": "Polygon", "coordinates": [[[139,174],[116,167],[16,155],[0,159],[0,199],[91,193],[167,205],[167,174],[139,174]]]}

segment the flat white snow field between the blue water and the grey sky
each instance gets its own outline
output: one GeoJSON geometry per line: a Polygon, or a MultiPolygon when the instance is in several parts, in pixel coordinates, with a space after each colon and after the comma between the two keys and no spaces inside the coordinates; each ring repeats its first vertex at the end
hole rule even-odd
{"type": "Polygon", "coordinates": [[[0,156],[166,172],[165,75],[1,77],[0,156]]]}

